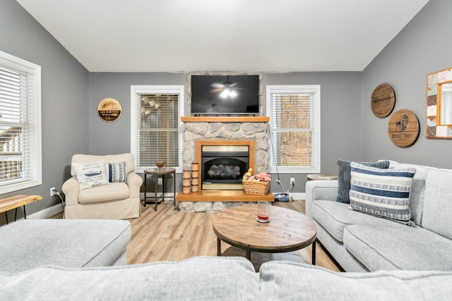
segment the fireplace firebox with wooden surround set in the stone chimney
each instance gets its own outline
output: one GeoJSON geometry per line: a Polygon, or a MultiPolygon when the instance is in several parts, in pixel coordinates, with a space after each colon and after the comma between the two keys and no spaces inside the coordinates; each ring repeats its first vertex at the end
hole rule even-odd
{"type": "Polygon", "coordinates": [[[243,190],[242,178],[254,168],[254,141],[205,140],[197,145],[202,190],[243,190]]]}

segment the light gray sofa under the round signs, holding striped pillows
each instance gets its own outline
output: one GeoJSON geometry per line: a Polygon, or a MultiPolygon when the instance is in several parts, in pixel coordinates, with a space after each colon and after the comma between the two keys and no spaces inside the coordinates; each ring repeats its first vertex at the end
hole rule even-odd
{"type": "Polygon", "coordinates": [[[306,212],[317,238],[345,271],[452,271],[452,170],[390,161],[415,168],[409,208],[414,226],[350,209],[336,202],[338,180],[306,185],[306,212]]]}

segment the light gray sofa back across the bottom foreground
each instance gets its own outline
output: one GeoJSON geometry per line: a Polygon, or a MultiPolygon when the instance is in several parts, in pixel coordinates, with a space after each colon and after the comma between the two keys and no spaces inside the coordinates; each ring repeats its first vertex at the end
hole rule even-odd
{"type": "Polygon", "coordinates": [[[447,300],[452,272],[336,273],[242,257],[0,272],[0,300],[447,300]]]}

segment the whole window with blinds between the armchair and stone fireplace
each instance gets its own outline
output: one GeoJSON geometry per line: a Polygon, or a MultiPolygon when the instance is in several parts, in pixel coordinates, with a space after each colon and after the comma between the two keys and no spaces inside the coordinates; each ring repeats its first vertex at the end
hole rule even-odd
{"type": "Polygon", "coordinates": [[[131,152],[136,171],[166,161],[182,172],[184,86],[131,86],[131,152]]]}

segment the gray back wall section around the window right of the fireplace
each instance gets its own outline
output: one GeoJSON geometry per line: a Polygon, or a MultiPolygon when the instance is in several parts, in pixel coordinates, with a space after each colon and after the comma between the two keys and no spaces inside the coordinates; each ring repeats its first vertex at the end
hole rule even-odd
{"type": "MultiPolygon", "coordinates": [[[[360,72],[267,73],[263,75],[263,85],[321,85],[322,173],[337,174],[337,159],[362,159],[360,72]]],[[[290,186],[290,178],[295,178],[293,192],[304,192],[306,175],[280,174],[285,190],[290,186]]],[[[274,180],[270,190],[283,191],[274,180]]]]}

